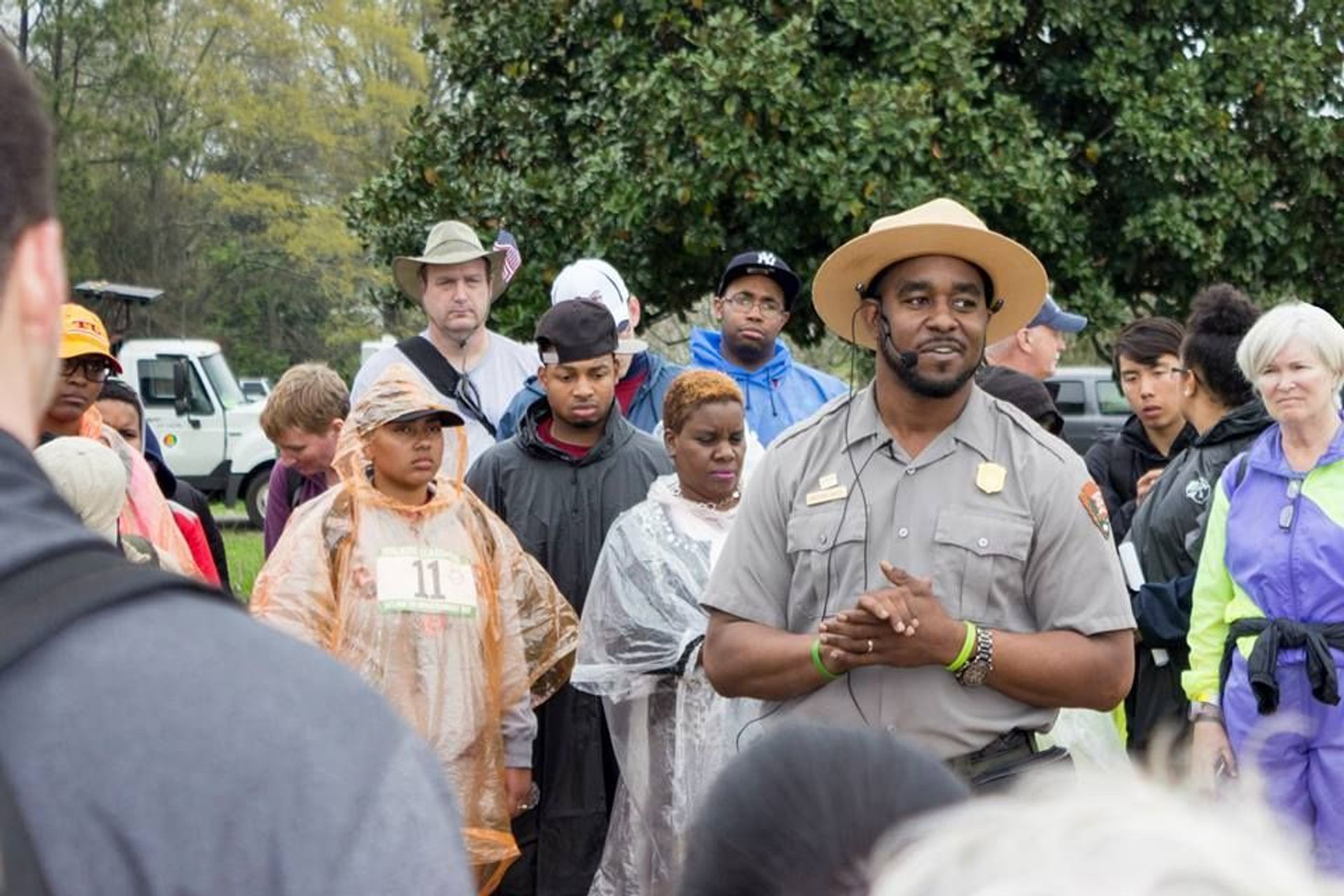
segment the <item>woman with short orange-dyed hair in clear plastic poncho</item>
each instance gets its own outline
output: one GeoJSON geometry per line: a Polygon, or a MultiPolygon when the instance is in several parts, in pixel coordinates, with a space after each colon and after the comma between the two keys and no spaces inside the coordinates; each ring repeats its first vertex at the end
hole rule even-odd
{"type": "Polygon", "coordinates": [[[699,598],[737,514],[745,455],[742,392],[687,371],[663,404],[676,473],[607,532],[583,604],[573,684],[599,695],[621,766],[593,895],[675,892],[681,837],[731,758],[750,701],[714,692],[700,666],[699,598]]]}

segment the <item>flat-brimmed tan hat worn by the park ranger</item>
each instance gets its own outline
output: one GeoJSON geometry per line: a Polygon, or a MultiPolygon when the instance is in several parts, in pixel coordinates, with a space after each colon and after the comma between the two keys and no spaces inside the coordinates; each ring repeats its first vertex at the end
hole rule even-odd
{"type": "Polygon", "coordinates": [[[862,294],[888,265],[921,255],[961,258],[989,274],[1003,308],[989,318],[986,343],[1025,326],[1046,301],[1046,269],[1025,246],[989,230],[961,203],[934,199],[879,218],[867,234],[831,253],[812,281],[817,314],[840,339],[875,349],[876,340],[855,320],[862,294]]]}

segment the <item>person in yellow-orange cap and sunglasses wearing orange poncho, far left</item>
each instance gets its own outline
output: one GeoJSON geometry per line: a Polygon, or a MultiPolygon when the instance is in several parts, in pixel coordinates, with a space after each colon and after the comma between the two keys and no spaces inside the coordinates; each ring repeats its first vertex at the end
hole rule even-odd
{"type": "MultiPolygon", "coordinates": [[[[126,504],[121,510],[122,535],[137,535],[155,545],[165,566],[208,580],[192,559],[191,547],[177,531],[172,509],[155,482],[153,470],[112,427],[103,426],[94,407],[109,373],[121,364],[112,353],[102,320],[82,305],[60,306],[60,383],[42,422],[43,441],[83,435],[98,439],[126,466],[126,504]]],[[[218,582],[218,579],[216,579],[218,582]]]]}

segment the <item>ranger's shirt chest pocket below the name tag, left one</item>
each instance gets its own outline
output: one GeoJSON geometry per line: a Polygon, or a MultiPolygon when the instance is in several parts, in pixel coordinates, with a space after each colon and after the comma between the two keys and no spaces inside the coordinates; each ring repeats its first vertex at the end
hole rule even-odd
{"type": "Polygon", "coordinates": [[[793,567],[790,631],[810,631],[824,615],[853,606],[863,591],[866,528],[863,508],[852,505],[847,510],[843,501],[789,517],[785,540],[793,567]]]}

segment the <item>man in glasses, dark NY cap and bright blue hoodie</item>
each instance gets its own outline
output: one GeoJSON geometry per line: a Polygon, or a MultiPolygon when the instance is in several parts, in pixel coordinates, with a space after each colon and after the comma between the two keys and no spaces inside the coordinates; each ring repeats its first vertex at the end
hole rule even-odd
{"type": "Polygon", "coordinates": [[[691,364],[731,376],[746,396],[747,426],[769,445],[775,435],[849,388],[793,360],[780,330],[798,297],[798,275],[774,253],[735,255],[719,278],[719,332],[691,330],[691,364]]]}

